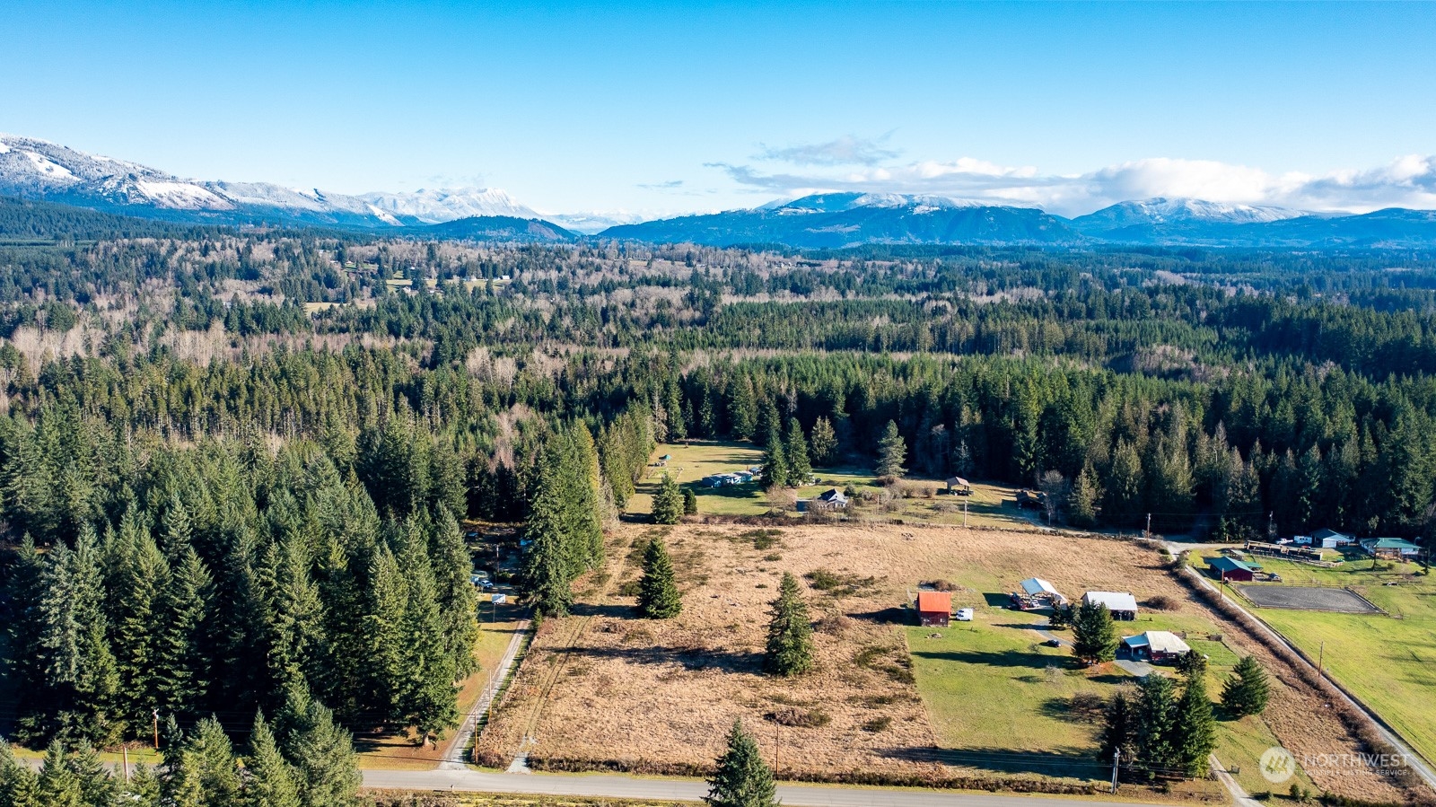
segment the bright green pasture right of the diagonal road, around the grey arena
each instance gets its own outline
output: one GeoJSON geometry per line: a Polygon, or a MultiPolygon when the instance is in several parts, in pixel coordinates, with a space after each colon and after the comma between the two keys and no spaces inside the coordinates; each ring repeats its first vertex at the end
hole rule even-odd
{"type": "MultiPolygon", "coordinates": [[[[1426,760],[1436,760],[1436,582],[1414,563],[1347,561],[1321,569],[1261,559],[1284,583],[1337,586],[1384,613],[1252,607],[1426,760]]],[[[1265,589],[1272,584],[1258,583],[1265,589]]]]}

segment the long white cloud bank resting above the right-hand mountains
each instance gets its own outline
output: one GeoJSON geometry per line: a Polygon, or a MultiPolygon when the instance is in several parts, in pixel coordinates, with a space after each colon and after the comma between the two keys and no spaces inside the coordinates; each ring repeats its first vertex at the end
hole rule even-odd
{"type": "Polygon", "coordinates": [[[1218,202],[1367,213],[1383,207],[1436,208],[1436,157],[1409,155],[1384,167],[1328,174],[1271,174],[1262,168],[1169,157],[1136,159],[1077,175],[1043,174],[1034,167],[998,165],[964,157],[954,161],[873,164],[830,172],[761,172],[748,165],[711,164],[758,192],[910,192],[1041,207],[1081,215],[1110,204],[1152,197],[1190,197],[1218,202]]]}

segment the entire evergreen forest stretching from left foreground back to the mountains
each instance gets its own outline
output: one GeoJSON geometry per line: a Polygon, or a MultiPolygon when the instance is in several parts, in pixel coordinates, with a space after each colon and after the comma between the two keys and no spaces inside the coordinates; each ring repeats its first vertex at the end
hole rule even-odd
{"type": "Polygon", "coordinates": [[[6,231],[45,243],[0,246],[0,729],[36,748],[310,698],[449,729],[461,520],[523,523],[560,613],[655,442],[791,418],[826,460],[872,464],[892,421],[923,474],[1055,471],[1081,527],[1436,530],[1429,254],[465,246],[42,208],[6,231]]]}

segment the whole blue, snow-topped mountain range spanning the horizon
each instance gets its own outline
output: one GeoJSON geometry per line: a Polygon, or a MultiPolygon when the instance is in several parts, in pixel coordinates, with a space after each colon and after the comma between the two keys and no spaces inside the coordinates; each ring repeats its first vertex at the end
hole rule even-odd
{"type": "Polygon", "coordinates": [[[362,228],[432,238],[572,241],[584,235],[708,246],[862,244],[1436,248],[1436,213],[1350,215],[1190,198],[1123,201],[1076,218],[1032,207],[908,194],[811,194],[755,208],[640,221],[543,217],[497,188],[332,194],[185,179],[59,144],[0,135],[0,195],[169,221],[362,228]]]}

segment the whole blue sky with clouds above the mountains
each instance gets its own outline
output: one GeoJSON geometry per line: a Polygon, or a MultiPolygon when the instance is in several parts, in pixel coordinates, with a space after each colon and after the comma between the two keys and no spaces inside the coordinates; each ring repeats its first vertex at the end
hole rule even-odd
{"type": "Polygon", "coordinates": [[[0,131],[184,177],[554,213],[1436,207],[1426,3],[0,0],[0,131]]]}

